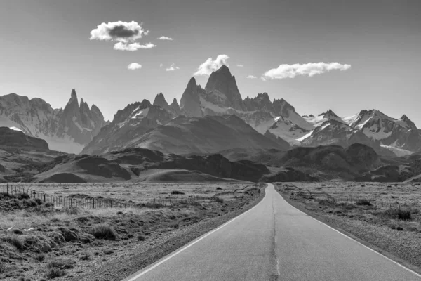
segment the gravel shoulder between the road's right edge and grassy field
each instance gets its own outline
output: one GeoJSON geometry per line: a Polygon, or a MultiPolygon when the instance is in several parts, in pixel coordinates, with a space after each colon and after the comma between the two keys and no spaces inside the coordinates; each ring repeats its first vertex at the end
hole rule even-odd
{"type": "Polygon", "coordinates": [[[283,185],[276,184],[275,186],[283,199],[293,207],[421,274],[420,232],[398,231],[381,223],[369,223],[358,218],[349,218],[343,214],[333,214],[333,212],[326,213],[322,208],[314,208],[309,201],[291,196],[289,190],[283,189],[283,185]]]}

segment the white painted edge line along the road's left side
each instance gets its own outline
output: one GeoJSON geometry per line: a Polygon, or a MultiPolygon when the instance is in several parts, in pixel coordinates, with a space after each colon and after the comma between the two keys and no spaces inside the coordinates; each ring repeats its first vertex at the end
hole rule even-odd
{"type": "MultiPolygon", "coordinates": [[[[269,185],[266,186],[266,188],[269,185]]],[[[265,189],[266,189],[265,188],[265,189]]],[[[265,197],[267,196],[267,193],[265,192],[265,197]]],[[[224,226],[227,226],[227,224],[232,223],[232,221],[235,221],[237,218],[240,218],[241,216],[247,214],[249,211],[255,209],[255,207],[258,207],[258,205],[260,205],[262,203],[262,201],[265,199],[265,197],[262,198],[262,200],[260,200],[260,202],[258,202],[258,204],[255,204],[255,206],[251,207],[251,209],[248,209],[247,211],[243,212],[242,214],[239,214],[238,216],[230,219],[229,221],[227,221],[226,223],[222,224],[222,226],[218,226],[218,228],[215,228],[214,230],[210,230],[208,233],[205,233],[203,235],[201,235],[201,237],[197,237],[195,240],[193,240],[192,242],[189,242],[187,245],[181,247],[180,249],[173,251],[173,253],[168,254],[167,256],[163,257],[162,259],[160,259],[159,261],[156,261],[155,263],[152,263],[152,265],[148,266],[147,268],[144,268],[142,270],[142,272],[140,273],[134,273],[133,275],[126,277],[125,279],[123,279],[123,281],[134,281],[136,279],[138,279],[138,277],[141,277],[142,275],[145,275],[146,273],[148,273],[149,271],[151,271],[152,269],[160,266],[162,263],[165,263],[166,261],[168,261],[169,259],[173,258],[174,256],[180,254],[182,251],[185,251],[185,249],[188,249],[189,247],[192,247],[194,244],[196,244],[197,242],[200,242],[201,240],[203,240],[204,238],[208,237],[209,235],[211,235],[212,233],[215,233],[216,231],[220,230],[221,228],[223,228],[224,226]]]]}

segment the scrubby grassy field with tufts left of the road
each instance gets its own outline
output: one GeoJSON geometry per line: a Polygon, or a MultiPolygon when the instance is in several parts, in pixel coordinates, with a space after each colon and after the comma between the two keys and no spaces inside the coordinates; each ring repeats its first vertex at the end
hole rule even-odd
{"type": "Polygon", "coordinates": [[[112,259],[152,249],[195,223],[243,209],[258,197],[258,185],[243,183],[23,186],[49,195],[83,194],[147,204],[58,209],[41,200],[0,194],[0,280],[77,277],[112,259]],[[156,200],[168,197],[171,204],[156,200]]]}

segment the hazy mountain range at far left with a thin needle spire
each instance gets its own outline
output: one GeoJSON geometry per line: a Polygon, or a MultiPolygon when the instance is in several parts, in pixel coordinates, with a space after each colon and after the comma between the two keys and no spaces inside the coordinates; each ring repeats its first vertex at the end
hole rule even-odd
{"type": "Polygon", "coordinates": [[[0,97],[0,126],[15,127],[27,136],[44,139],[51,150],[79,153],[106,124],[101,111],[81,99],[73,89],[65,109],[53,109],[41,98],[0,97]]]}

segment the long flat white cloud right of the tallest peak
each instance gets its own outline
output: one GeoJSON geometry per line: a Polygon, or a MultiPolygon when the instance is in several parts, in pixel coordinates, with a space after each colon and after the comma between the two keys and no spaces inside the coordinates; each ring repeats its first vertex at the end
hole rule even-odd
{"type": "Polygon", "coordinates": [[[264,74],[262,79],[284,79],[294,78],[297,75],[308,75],[312,77],[316,74],[329,72],[330,70],[348,70],[351,65],[342,65],[340,63],[305,63],[300,65],[295,63],[293,65],[279,65],[278,68],[272,68],[264,74]]]}

